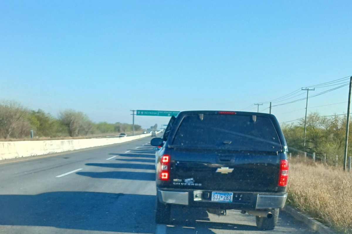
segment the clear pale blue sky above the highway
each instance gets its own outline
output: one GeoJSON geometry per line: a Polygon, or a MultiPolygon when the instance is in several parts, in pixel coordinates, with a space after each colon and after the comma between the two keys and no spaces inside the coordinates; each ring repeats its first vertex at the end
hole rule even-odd
{"type": "MultiPolygon", "coordinates": [[[[256,112],[352,75],[351,11],[349,0],[0,0],[0,100],[110,123],[132,123],[131,109],[256,112]]],[[[309,98],[308,113],[344,114],[347,98],[348,86],[309,98]]],[[[286,122],[305,105],[272,113],[286,122]]]]}

